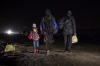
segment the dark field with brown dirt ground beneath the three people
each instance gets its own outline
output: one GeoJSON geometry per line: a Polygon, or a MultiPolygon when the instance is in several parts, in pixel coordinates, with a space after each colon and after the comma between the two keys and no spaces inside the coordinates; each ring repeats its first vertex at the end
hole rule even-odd
{"type": "Polygon", "coordinates": [[[65,53],[62,33],[58,33],[54,35],[55,42],[51,45],[49,55],[45,52],[42,39],[39,54],[35,55],[32,41],[27,36],[1,35],[2,40],[7,42],[10,39],[16,43],[17,51],[14,55],[1,55],[0,66],[100,66],[99,34],[99,31],[78,31],[79,42],[73,44],[72,53],[65,53]]]}

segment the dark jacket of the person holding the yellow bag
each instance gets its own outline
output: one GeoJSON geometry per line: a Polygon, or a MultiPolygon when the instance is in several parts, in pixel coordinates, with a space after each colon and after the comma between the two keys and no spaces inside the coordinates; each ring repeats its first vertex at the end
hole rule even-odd
{"type": "Polygon", "coordinates": [[[73,16],[67,16],[63,18],[64,22],[64,28],[63,33],[64,34],[76,34],[76,25],[75,20],[73,16]]]}

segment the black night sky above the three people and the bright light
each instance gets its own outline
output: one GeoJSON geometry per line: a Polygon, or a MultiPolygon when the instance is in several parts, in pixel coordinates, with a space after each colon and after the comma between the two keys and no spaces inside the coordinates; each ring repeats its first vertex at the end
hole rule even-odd
{"type": "Polygon", "coordinates": [[[77,29],[100,28],[100,5],[96,0],[2,0],[0,1],[0,31],[22,30],[41,22],[45,10],[50,9],[58,21],[71,10],[77,29]]]}

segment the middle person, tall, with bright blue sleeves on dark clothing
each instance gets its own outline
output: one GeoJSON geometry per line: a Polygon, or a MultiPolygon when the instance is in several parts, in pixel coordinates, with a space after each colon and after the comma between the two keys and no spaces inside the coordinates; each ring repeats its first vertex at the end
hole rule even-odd
{"type": "Polygon", "coordinates": [[[51,14],[49,9],[46,10],[46,15],[43,17],[40,23],[41,34],[44,35],[44,40],[46,43],[46,51],[49,54],[50,45],[54,42],[53,34],[57,33],[57,23],[54,16],[51,14]]]}

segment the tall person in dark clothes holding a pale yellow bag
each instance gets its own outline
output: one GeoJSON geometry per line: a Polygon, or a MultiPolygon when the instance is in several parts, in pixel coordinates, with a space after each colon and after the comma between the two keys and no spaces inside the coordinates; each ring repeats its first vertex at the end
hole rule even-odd
{"type": "Polygon", "coordinates": [[[59,28],[63,29],[65,51],[71,52],[72,36],[76,35],[76,25],[70,10],[67,12],[67,16],[60,20],[59,28]]]}

